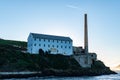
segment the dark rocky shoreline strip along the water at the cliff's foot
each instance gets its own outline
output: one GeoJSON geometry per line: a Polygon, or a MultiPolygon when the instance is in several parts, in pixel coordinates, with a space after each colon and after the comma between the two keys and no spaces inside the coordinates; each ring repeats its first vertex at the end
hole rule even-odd
{"type": "Polygon", "coordinates": [[[46,76],[57,76],[57,77],[78,77],[78,76],[98,76],[98,75],[109,75],[117,74],[114,71],[107,69],[103,70],[44,70],[42,72],[1,72],[0,79],[10,78],[29,78],[29,77],[46,77],[46,76]]]}

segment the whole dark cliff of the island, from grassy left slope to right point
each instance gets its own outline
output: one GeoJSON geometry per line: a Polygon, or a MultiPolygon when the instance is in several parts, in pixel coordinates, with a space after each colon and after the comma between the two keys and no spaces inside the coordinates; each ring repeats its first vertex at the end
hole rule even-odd
{"type": "Polygon", "coordinates": [[[72,56],[24,53],[26,42],[0,41],[0,72],[42,71],[42,75],[83,76],[113,74],[101,61],[82,68],[72,56]]]}

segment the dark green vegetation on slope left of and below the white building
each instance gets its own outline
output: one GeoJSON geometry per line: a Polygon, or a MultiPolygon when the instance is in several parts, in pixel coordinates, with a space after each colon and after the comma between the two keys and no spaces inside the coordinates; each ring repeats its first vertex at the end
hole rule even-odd
{"type": "Polygon", "coordinates": [[[70,56],[29,54],[26,42],[0,40],[0,71],[40,71],[44,69],[78,69],[79,64],[70,56]]]}

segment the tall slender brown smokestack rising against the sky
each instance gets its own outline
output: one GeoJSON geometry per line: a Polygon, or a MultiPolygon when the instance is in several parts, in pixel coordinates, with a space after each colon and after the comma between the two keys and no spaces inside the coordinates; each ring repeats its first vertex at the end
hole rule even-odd
{"type": "Polygon", "coordinates": [[[85,49],[85,54],[88,53],[87,14],[84,15],[84,49],[85,49]]]}

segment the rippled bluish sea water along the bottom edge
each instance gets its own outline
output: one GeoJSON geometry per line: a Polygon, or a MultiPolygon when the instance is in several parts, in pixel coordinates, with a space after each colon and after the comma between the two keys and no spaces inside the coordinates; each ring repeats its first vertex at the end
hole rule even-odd
{"type": "Polygon", "coordinates": [[[32,77],[23,79],[5,79],[5,80],[120,80],[120,72],[118,74],[102,75],[102,76],[84,76],[84,77],[32,77]]]}

